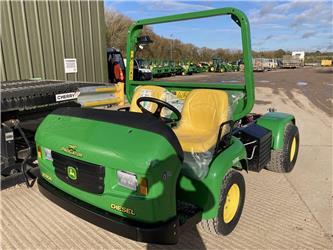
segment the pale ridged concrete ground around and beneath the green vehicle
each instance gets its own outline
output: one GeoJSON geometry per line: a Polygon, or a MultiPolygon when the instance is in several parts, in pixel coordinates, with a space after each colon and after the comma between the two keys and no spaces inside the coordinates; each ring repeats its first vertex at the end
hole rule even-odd
{"type": "MultiPolygon", "coordinates": [[[[309,92],[303,91],[313,85],[307,88],[321,92],[325,80],[310,81],[315,76],[306,78],[308,85],[293,82],[293,87],[288,88],[288,75],[302,70],[320,74],[313,69],[256,73],[257,82],[263,77],[262,81],[279,83],[257,84],[254,111],[266,112],[267,108],[275,107],[295,114],[300,129],[300,153],[290,174],[265,170],[259,174],[244,173],[245,207],[231,235],[216,237],[193,228],[182,234],[176,246],[138,243],[75,217],[44,198],[36,187],[27,189],[21,185],[1,192],[1,248],[332,249],[332,118],[328,112],[332,103],[324,102],[329,105],[322,108],[314,97],[308,96],[309,92]]],[[[332,77],[322,74],[325,79],[332,77]]],[[[303,75],[295,81],[305,81],[303,75]]],[[[332,84],[327,86],[325,95],[332,98],[332,84]]],[[[316,98],[323,100],[324,96],[316,98]]]]}

